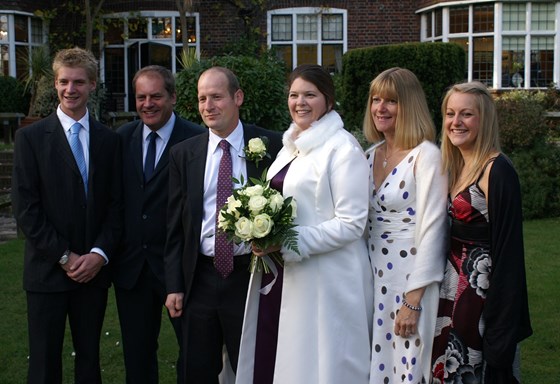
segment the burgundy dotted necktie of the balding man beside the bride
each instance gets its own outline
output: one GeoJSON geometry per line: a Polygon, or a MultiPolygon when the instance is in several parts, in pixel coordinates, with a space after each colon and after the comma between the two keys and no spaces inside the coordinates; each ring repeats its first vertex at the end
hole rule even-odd
{"type": "Polygon", "coordinates": [[[214,244],[214,266],[225,279],[233,271],[233,244],[228,241],[227,236],[218,230],[218,214],[226,203],[226,200],[233,192],[233,182],[231,180],[233,168],[231,154],[229,153],[229,143],[227,140],[220,141],[222,148],[222,159],[218,170],[218,186],[216,192],[216,236],[214,244]]]}

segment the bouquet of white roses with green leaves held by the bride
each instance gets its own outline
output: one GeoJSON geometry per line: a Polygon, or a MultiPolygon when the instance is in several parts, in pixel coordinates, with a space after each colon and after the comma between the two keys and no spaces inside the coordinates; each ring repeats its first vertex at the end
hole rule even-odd
{"type": "MultiPolygon", "coordinates": [[[[261,249],[273,245],[283,245],[299,253],[297,232],[293,224],[296,216],[296,202],[292,197],[283,197],[266,181],[266,170],[261,179],[250,178],[251,184],[235,189],[226,204],[220,209],[218,228],[235,243],[251,241],[261,249]]],[[[236,184],[244,184],[234,180],[236,184]]],[[[280,264],[279,253],[271,254],[280,264]]],[[[251,273],[270,272],[262,257],[251,257],[251,273]]]]}

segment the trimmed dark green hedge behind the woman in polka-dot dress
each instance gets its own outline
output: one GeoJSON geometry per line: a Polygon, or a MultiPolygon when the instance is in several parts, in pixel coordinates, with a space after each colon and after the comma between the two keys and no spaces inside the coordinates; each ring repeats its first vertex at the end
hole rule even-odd
{"type": "Polygon", "coordinates": [[[392,67],[407,68],[422,83],[428,107],[438,131],[441,127],[441,99],[446,88],[463,81],[465,51],[451,43],[405,43],[359,48],[343,56],[341,112],[346,126],[361,130],[369,84],[392,67]]]}

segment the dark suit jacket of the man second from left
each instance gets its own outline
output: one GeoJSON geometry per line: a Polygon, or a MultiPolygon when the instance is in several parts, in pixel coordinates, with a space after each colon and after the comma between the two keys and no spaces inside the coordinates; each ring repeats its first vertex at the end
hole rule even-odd
{"type": "Polygon", "coordinates": [[[152,177],[144,184],[142,121],[128,123],[117,131],[122,139],[124,236],[113,260],[113,282],[130,289],[138,280],[144,262],[165,283],[163,251],[167,226],[169,149],[206,132],[201,126],[177,116],[167,146],[152,177]]]}

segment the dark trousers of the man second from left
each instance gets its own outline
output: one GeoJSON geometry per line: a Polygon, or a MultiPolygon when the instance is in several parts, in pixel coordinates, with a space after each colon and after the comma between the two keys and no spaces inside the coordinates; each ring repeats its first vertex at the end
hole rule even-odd
{"type": "MultiPolygon", "coordinates": [[[[124,289],[115,285],[123,341],[127,384],[157,384],[158,338],[162,308],[165,305],[165,286],[144,263],[136,285],[124,289]]],[[[165,311],[167,313],[167,310],[165,311]]],[[[171,319],[178,346],[182,343],[181,320],[171,319]]],[[[177,361],[177,383],[183,383],[181,352],[177,361]]]]}

